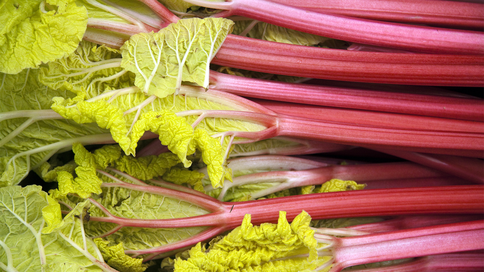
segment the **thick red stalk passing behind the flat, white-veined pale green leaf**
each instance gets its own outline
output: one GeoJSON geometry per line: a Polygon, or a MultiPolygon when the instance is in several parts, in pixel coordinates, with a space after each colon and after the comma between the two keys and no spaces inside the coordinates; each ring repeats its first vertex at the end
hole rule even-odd
{"type": "MultiPolygon", "coordinates": [[[[144,2],[166,23],[179,19],[157,1],[144,2]]],[[[88,41],[113,48],[120,48],[128,38],[126,35],[97,33],[90,28],[84,36],[88,41]]],[[[355,52],[268,42],[232,34],[227,36],[212,63],[333,80],[432,86],[481,87],[484,84],[482,55],[355,52]]]]}

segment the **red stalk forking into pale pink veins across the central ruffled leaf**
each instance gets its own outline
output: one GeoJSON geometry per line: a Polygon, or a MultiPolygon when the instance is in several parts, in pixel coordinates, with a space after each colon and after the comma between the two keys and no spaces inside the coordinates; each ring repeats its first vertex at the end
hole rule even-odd
{"type": "MultiPolygon", "coordinates": [[[[231,136],[233,143],[247,143],[275,136],[292,136],[322,140],[338,144],[358,146],[392,146],[413,151],[425,150],[443,152],[449,150],[470,150],[482,152],[484,135],[475,132],[442,131],[413,128],[386,127],[380,125],[359,125],[354,123],[324,121],[278,114],[250,102],[242,97],[215,90],[182,86],[180,94],[196,96],[229,105],[236,110],[186,110],[177,116],[199,116],[192,123],[196,126],[204,118],[228,118],[250,121],[265,127],[260,131],[225,131],[212,137],[231,136]],[[435,150],[438,149],[438,150],[435,150]],[[442,149],[442,150],[439,150],[442,149]]],[[[241,128],[242,129],[242,128],[241,128]]],[[[388,147],[390,148],[390,147],[388,147]]]]}

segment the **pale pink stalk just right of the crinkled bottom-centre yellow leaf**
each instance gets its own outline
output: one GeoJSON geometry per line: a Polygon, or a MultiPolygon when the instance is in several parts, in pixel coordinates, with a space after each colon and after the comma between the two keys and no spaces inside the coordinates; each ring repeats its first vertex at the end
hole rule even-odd
{"type": "Polygon", "coordinates": [[[339,272],[349,266],[371,262],[484,249],[483,236],[484,220],[477,220],[317,240],[332,242],[334,264],[330,272],[339,272]]]}

